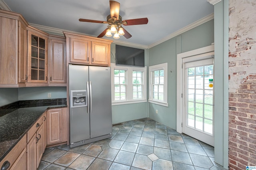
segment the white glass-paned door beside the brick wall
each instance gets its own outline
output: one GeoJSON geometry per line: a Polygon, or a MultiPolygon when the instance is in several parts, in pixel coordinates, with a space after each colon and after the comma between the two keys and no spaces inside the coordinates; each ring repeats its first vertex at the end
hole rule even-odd
{"type": "Polygon", "coordinates": [[[182,131],[213,145],[214,66],[213,59],[185,63],[182,131]],[[198,138],[199,136],[199,138],[198,138]],[[202,139],[200,139],[202,138],[202,139]],[[210,140],[210,141],[207,141],[210,140]],[[212,140],[212,141],[211,141],[212,140]]]}

